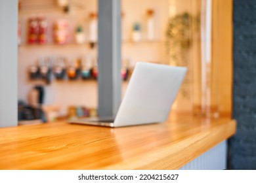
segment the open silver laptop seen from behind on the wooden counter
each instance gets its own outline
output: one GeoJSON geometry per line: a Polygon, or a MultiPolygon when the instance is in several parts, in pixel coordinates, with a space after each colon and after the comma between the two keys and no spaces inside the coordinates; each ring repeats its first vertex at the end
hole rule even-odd
{"type": "Polygon", "coordinates": [[[114,118],[82,118],[72,124],[123,127],[165,122],[186,67],[138,62],[114,118]]]}

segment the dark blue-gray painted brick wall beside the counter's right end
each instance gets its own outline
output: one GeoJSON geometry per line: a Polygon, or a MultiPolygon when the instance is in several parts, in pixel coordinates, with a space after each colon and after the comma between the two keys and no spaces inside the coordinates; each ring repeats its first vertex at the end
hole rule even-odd
{"type": "Polygon", "coordinates": [[[256,169],[256,1],[234,0],[233,118],[230,169],[256,169]]]}

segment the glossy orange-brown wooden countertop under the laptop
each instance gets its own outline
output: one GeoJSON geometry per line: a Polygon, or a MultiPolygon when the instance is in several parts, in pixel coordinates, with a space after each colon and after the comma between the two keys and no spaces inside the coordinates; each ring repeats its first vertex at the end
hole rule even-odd
{"type": "Polygon", "coordinates": [[[66,122],[0,129],[0,169],[179,169],[236,132],[229,118],[171,114],[163,124],[66,122]]]}

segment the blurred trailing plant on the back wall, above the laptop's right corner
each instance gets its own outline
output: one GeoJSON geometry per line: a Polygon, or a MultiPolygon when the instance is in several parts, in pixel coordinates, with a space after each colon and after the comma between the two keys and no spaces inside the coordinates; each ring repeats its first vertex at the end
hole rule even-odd
{"type": "MultiPolygon", "coordinates": [[[[188,12],[177,14],[169,19],[166,31],[168,64],[188,68],[188,74],[181,87],[181,95],[184,99],[190,99],[190,91],[187,86],[191,82],[191,63],[189,62],[192,59],[189,50],[192,46],[192,21],[194,20],[196,19],[193,19],[188,12]]],[[[193,22],[193,25],[195,25],[194,23],[196,22],[193,22]]]]}

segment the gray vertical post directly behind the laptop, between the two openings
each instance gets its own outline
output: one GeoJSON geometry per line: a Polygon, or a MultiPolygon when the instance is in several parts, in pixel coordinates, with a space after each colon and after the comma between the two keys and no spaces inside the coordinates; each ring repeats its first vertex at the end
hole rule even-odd
{"type": "Polygon", "coordinates": [[[121,0],[98,0],[98,116],[121,103],[121,0]]]}

